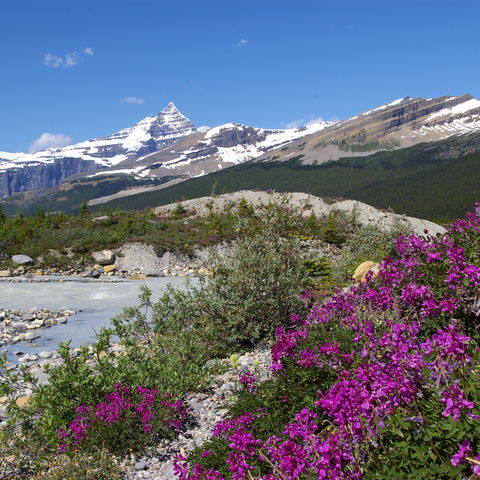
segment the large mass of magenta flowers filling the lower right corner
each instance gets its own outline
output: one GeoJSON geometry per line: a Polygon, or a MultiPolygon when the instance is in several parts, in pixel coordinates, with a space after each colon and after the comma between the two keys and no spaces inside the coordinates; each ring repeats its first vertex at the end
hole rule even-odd
{"type": "MultiPolygon", "coordinates": [[[[372,470],[397,468],[382,465],[391,459],[398,461],[398,469],[389,470],[394,478],[480,478],[479,247],[480,204],[442,237],[399,236],[396,255],[382,261],[376,278],[314,305],[299,328],[277,329],[271,349],[276,375],[288,362],[338,373],[326,391],[318,390],[316,409],[302,409],[267,439],[255,435],[255,421],[264,413],[224,420],[213,436],[227,445],[226,467],[190,465],[179,455],[176,475],[387,478],[372,470]],[[310,337],[333,323],[352,332],[353,349],[342,351],[337,342],[306,348],[310,337]],[[426,453],[418,453],[418,442],[426,453]],[[419,456],[423,473],[408,476],[411,458],[399,460],[402,454],[419,456]]],[[[250,388],[248,379],[244,384],[250,388]]]]}

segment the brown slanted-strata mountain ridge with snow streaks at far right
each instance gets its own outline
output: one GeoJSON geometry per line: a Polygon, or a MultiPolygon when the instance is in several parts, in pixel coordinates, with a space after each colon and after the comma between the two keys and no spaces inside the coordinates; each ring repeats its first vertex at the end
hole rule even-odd
{"type": "Polygon", "coordinates": [[[307,142],[292,142],[258,161],[301,154],[304,163],[322,163],[475,132],[480,132],[480,100],[472,95],[405,97],[336,122],[307,142]]]}

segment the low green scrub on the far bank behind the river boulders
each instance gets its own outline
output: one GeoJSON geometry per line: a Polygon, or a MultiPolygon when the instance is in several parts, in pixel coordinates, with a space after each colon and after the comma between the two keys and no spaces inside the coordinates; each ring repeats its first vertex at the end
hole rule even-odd
{"type": "Polygon", "coordinates": [[[0,251],[8,255],[21,252],[33,259],[41,257],[43,261],[37,261],[33,268],[82,266],[88,260],[85,254],[117,248],[129,241],[143,241],[158,252],[189,253],[192,245],[210,245],[233,236],[232,216],[219,214],[219,219],[221,228],[212,239],[208,219],[163,219],[157,218],[151,210],[110,212],[107,219],[95,222],[86,213],[78,217],[65,214],[5,216],[0,222],[0,251]]]}

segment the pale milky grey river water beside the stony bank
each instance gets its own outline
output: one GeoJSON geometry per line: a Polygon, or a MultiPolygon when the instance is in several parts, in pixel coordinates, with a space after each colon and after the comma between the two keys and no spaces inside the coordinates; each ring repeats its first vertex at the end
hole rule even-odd
{"type": "Polygon", "coordinates": [[[95,341],[95,333],[110,323],[110,319],[125,307],[138,303],[140,286],[146,285],[153,292],[152,300],[161,295],[167,284],[185,286],[184,277],[159,277],[144,280],[91,280],[80,281],[76,277],[55,277],[50,282],[1,282],[0,306],[8,309],[28,310],[48,308],[52,310],[75,310],[65,324],[32,330],[40,335],[33,343],[20,342],[3,346],[9,358],[14,352],[38,353],[55,350],[60,342],[71,340],[73,347],[95,341]]]}

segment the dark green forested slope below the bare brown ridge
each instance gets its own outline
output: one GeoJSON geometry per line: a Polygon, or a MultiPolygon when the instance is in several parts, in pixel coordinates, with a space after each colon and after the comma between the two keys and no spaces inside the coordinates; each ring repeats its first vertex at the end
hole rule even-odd
{"type": "Polygon", "coordinates": [[[478,200],[480,136],[451,137],[367,157],[320,165],[287,162],[246,163],[155,192],[120,198],[107,205],[143,208],[182,197],[241,189],[305,192],[320,197],[354,198],[378,208],[431,220],[464,216],[478,200]]]}

